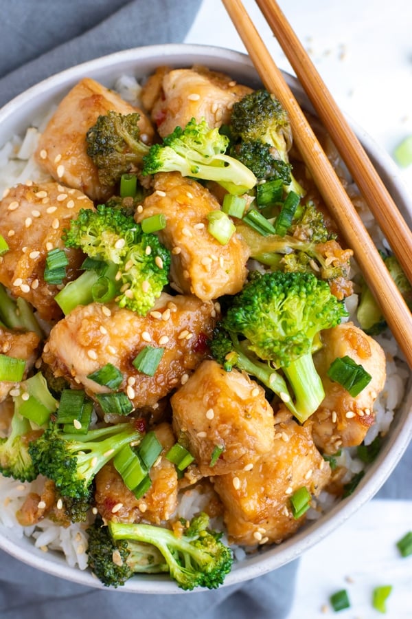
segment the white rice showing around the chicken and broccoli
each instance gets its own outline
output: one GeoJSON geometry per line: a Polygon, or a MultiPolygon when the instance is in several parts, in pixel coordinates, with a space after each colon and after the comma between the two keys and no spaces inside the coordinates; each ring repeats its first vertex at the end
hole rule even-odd
{"type": "MultiPolygon", "coordinates": [[[[132,76],[122,76],[115,83],[115,90],[128,102],[135,105],[139,104],[141,87],[137,80],[132,76]]],[[[41,171],[34,161],[33,153],[38,144],[38,138],[45,128],[50,116],[54,113],[52,109],[47,116],[34,121],[32,126],[27,129],[23,138],[14,135],[0,149],[0,196],[7,192],[10,186],[27,181],[45,182],[49,176],[41,171]]],[[[341,177],[347,180],[347,171],[340,170],[341,177]]],[[[356,186],[350,185],[347,191],[360,213],[365,226],[374,238],[378,248],[387,247],[382,233],[376,226],[373,215],[365,206],[365,203],[358,194],[356,186]]],[[[354,274],[357,272],[356,263],[352,268],[354,274]]],[[[356,308],[358,305],[358,295],[352,294],[345,301],[350,316],[347,320],[356,323],[356,308]]],[[[407,365],[400,362],[402,353],[398,348],[396,340],[391,337],[389,332],[376,338],[387,355],[387,379],[385,388],[380,394],[374,406],[375,423],[369,429],[365,438],[365,444],[370,444],[378,435],[385,435],[389,430],[393,415],[400,406],[403,398],[409,371],[407,365]]],[[[356,457],[356,448],[342,450],[341,456],[336,459],[339,466],[347,468],[347,475],[343,479],[344,483],[350,481],[352,475],[359,473],[364,468],[363,462],[356,457]]],[[[29,492],[41,492],[42,479],[38,478],[31,484],[22,484],[20,481],[1,477],[0,475],[0,530],[1,528],[12,529],[18,537],[32,537],[34,545],[45,552],[47,550],[58,550],[65,554],[68,565],[87,568],[87,536],[84,530],[86,523],[75,523],[67,528],[60,527],[47,519],[41,521],[36,526],[22,527],[16,519],[16,511],[21,508],[23,501],[29,492]]],[[[205,509],[209,501],[208,492],[203,492],[196,488],[190,488],[181,495],[178,508],[178,516],[190,519],[194,513],[205,509]]],[[[334,495],[328,492],[321,492],[315,508],[308,511],[308,519],[318,519],[321,514],[330,510],[337,503],[334,495]]],[[[235,548],[236,558],[242,560],[245,553],[240,547],[235,548]]]]}

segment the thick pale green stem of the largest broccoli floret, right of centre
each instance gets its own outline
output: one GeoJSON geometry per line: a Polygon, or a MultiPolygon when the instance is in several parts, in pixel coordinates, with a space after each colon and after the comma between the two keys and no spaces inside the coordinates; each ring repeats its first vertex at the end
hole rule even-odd
{"type": "Polygon", "coordinates": [[[325,398],[321,378],[314,367],[312,351],[282,369],[295,393],[295,417],[304,423],[325,398]]]}

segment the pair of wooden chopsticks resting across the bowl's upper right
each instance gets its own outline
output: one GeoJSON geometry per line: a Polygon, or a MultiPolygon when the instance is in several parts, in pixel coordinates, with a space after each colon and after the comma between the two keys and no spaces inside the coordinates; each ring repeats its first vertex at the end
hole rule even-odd
{"type": "MultiPolygon", "coordinates": [[[[301,110],[282,72],[273,61],[249,14],[240,0],[222,0],[240,39],[249,53],[264,87],[273,92],[288,111],[294,142],[310,171],[325,204],[334,217],[347,246],[382,309],[382,313],[412,368],[412,315],[391,279],[378,250],[367,232],[339,177],[325,155],[306,116],[301,110]]],[[[412,232],[393,203],[358,138],[297,39],[286,17],[274,0],[256,0],[271,26],[286,58],[296,72],[319,118],[328,130],[341,158],[350,170],[365,202],[374,214],[391,249],[412,282],[412,232]]]]}

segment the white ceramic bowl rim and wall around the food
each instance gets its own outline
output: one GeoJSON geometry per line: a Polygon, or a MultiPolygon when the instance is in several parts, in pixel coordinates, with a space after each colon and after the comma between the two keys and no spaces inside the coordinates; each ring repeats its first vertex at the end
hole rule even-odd
{"type": "MultiPolygon", "coordinates": [[[[39,113],[48,110],[54,102],[58,102],[84,76],[94,78],[110,87],[113,86],[115,79],[123,74],[143,78],[159,65],[189,67],[195,63],[226,72],[239,80],[240,83],[247,83],[251,87],[260,86],[260,80],[247,56],[219,47],[152,45],[117,52],[56,74],[28,89],[5,105],[0,110],[0,146],[13,134],[23,133],[30,125],[30,119],[36,118],[39,113]]],[[[312,107],[297,80],[288,75],[285,77],[301,105],[308,111],[312,111],[312,107]]],[[[352,121],[351,124],[393,199],[411,224],[412,200],[406,187],[402,184],[395,164],[393,164],[389,155],[379,149],[364,131],[356,127],[352,121]]],[[[293,561],[343,524],[376,494],[395,468],[412,437],[411,390],[407,389],[407,393],[409,393],[409,397],[396,414],[376,461],[367,470],[355,492],[334,506],[325,516],[299,530],[291,539],[284,541],[279,546],[269,547],[260,554],[235,563],[225,580],[225,585],[233,585],[250,578],[256,578],[289,561],[293,561]]],[[[34,547],[31,539],[19,538],[12,529],[0,529],[0,547],[20,561],[36,569],[41,569],[43,572],[82,585],[102,587],[89,571],[69,567],[62,555],[50,551],[44,553],[34,547]]],[[[124,587],[117,590],[148,594],[182,593],[182,590],[168,577],[155,575],[135,576],[128,580],[124,587]]]]}

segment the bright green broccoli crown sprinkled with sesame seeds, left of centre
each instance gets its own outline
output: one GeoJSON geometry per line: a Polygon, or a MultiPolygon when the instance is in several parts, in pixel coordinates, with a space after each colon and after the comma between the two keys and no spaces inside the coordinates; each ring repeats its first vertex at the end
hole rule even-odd
{"type": "MultiPolygon", "coordinates": [[[[104,276],[111,281],[120,307],[144,315],[168,284],[170,252],[157,235],[144,233],[140,224],[121,210],[105,204],[96,210],[81,209],[63,239],[67,247],[80,248],[109,267],[116,265],[104,276]]],[[[67,286],[76,290],[76,281],[67,286]]]]}

